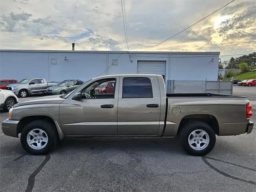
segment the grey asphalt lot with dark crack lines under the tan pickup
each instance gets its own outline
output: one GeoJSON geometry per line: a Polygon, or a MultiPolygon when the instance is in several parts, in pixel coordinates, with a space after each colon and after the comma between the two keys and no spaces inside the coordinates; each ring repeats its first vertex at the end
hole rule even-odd
{"type": "MultiPolygon", "coordinates": [[[[248,96],[256,122],[256,86],[234,86],[233,93],[248,96]]],[[[0,123],[5,118],[0,113],[0,123]]],[[[189,156],[170,138],[70,138],[33,156],[0,130],[0,191],[256,191],[255,129],[217,137],[204,157],[189,156]]]]}

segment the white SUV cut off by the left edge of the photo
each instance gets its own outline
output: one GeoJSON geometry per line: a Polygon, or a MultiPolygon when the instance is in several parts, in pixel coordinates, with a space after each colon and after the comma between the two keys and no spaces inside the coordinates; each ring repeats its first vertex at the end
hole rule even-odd
{"type": "Polygon", "coordinates": [[[16,103],[18,98],[12,91],[0,89],[0,111],[9,111],[16,103]]]}

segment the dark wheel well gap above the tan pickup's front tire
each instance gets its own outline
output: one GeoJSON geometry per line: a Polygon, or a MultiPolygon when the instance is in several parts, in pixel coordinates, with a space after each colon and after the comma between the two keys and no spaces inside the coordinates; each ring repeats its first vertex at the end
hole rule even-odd
{"type": "Polygon", "coordinates": [[[18,128],[17,128],[17,132],[18,134],[22,132],[24,126],[34,120],[45,120],[45,121],[48,121],[50,122],[53,126],[54,126],[54,129],[56,131],[56,134],[58,136],[58,139],[59,139],[59,134],[58,134],[58,130],[56,128],[56,125],[54,123],[54,120],[52,118],[50,118],[49,116],[44,116],[44,115],[36,115],[36,116],[28,116],[28,117],[24,117],[20,120],[20,122],[18,123],[18,128]]]}

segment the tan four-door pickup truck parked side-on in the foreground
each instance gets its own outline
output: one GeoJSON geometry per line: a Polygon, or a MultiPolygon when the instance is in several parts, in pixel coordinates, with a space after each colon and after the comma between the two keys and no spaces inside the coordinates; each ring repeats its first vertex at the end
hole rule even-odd
{"type": "Polygon", "coordinates": [[[14,105],[2,130],[20,134],[30,154],[46,154],[64,137],[150,136],[178,137],[186,152],[199,156],[212,150],[216,135],[252,132],[251,109],[242,96],[166,94],[160,75],[110,75],[67,95],[14,105]],[[99,92],[106,82],[112,82],[113,91],[99,92]]]}

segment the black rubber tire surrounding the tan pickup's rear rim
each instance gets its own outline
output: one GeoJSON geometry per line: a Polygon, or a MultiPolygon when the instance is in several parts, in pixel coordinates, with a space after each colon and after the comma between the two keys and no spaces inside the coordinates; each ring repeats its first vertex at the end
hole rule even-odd
{"type": "Polygon", "coordinates": [[[214,130],[208,124],[202,121],[189,121],[188,123],[184,124],[184,126],[182,126],[182,130],[180,131],[179,138],[184,150],[188,154],[194,156],[204,156],[208,154],[214,148],[214,145],[216,143],[216,136],[214,130]],[[188,137],[190,133],[197,129],[204,130],[209,135],[209,144],[206,148],[202,150],[195,150],[190,147],[188,143],[188,137]]]}

